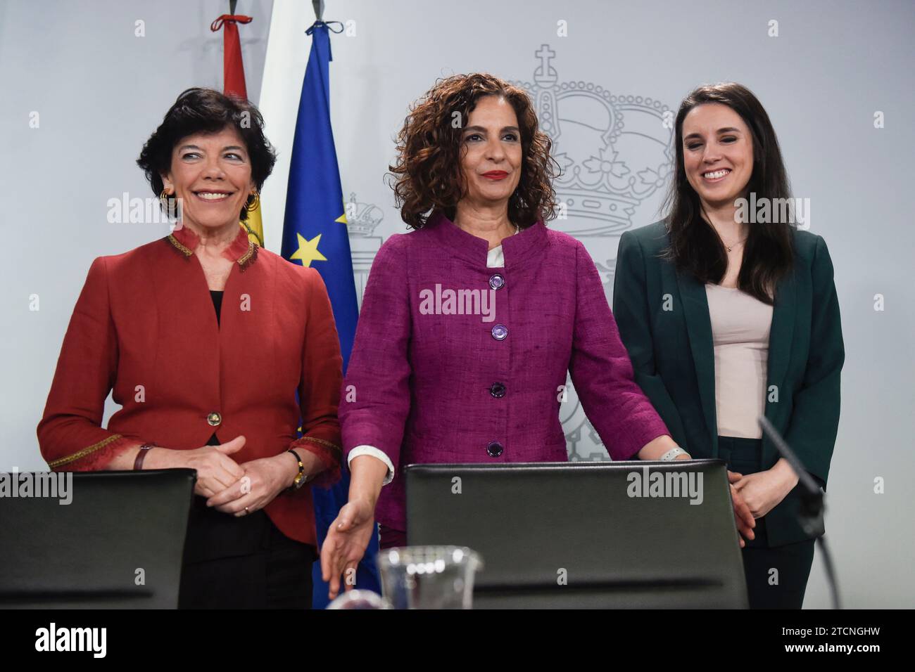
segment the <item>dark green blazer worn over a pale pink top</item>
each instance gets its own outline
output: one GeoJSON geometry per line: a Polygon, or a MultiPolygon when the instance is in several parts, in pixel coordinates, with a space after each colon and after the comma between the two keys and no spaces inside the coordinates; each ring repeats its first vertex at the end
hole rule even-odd
{"type": "MultiPolygon", "coordinates": [[[[635,379],[673,440],[696,458],[718,456],[715,351],[705,285],[663,260],[663,222],[619,239],[613,315],[635,379]],[[665,310],[667,308],[667,310],[665,310]]],[[[794,269],[775,291],[766,417],[825,488],[839,424],[845,361],[833,262],[820,236],[794,231],[794,269]],[[775,386],[774,389],[772,386],[775,386]]],[[[779,454],[762,440],[762,468],[779,454]]],[[[770,546],[809,539],[795,522],[800,487],[765,517],[770,546]]],[[[823,533],[823,529],[813,536],[823,533]]]]}

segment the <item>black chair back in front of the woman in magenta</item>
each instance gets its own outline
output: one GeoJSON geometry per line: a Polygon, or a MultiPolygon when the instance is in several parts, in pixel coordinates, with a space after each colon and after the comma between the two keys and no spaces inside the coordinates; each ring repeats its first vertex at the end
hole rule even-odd
{"type": "Polygon", "coordinates": [[[475,608],[748,605],[720,460],[412,464],[406,479],[408,542],[482,556],[475,608]]]}

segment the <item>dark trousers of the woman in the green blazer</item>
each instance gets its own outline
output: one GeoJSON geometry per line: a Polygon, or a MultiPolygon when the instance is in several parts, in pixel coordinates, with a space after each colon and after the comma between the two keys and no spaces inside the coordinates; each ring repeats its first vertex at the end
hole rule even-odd
{"type": "MultiPolygon", "coordinates": [[[[718,437],[718,456],[743,475],[761,471],[762,441],[718,437]]],[[[770,547],[766,517],[756,519],[756,539],[743,549],[750,609],[800,609],[813,566],[814,539],[770,547]]]]}

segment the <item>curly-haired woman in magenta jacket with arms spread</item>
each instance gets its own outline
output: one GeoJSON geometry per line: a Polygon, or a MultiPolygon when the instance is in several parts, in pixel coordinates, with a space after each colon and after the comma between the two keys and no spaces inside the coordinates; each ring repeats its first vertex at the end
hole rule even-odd
{"type": "Polygon", "coordinates": [[[550,141],[527,94],[441,80],[398,140],[414,231],[375,258],[340,397],[352,477],[321,551],[331,598],[376,517],[382,548],[404,544],[405,464],[565,462],[567,372],[614,460],[689,459],[633,380],[594,262],[544,226],[550,141]]]}

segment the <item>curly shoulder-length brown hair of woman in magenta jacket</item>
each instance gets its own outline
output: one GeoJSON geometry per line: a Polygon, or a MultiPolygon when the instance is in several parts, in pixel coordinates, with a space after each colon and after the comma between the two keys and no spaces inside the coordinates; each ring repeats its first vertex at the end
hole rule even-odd
{"type": "Polygon", "coordinates": [[[411,228],[422,229],[435,210],[454,219],[466,184],[460,167],[462,124],[456,127],[453,120],[466,121],[484,96],[508,101],[521,129],[521,179],[509,199],[509,219],[526,229],[556,216],[553,177],[558,165],[550,156],[552,141],[539,129],[530,96],[498,77],[477,73],[436,81],[411,105],[397,134],[397,160],[389,166],[389,184],[401,218],[411,228]]]}

